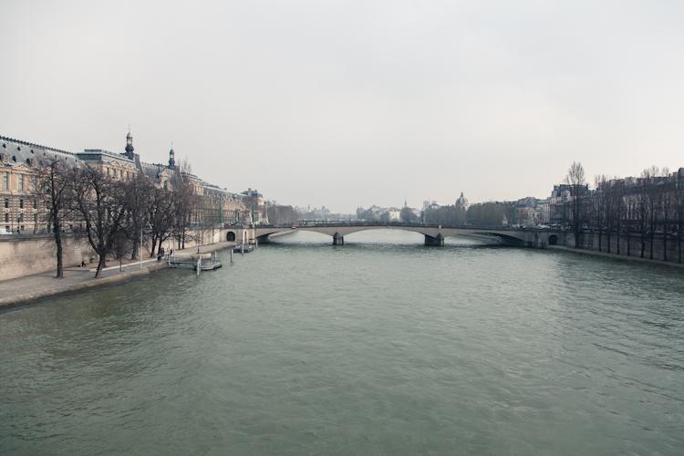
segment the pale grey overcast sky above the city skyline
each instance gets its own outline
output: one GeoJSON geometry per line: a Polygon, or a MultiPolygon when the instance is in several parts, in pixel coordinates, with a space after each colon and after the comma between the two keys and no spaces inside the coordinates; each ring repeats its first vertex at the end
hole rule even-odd
{"type": "Polygon", "coordinates": [[[684,2],[0,2],[0,135],[355,212],[684,166],[684,2]]]}

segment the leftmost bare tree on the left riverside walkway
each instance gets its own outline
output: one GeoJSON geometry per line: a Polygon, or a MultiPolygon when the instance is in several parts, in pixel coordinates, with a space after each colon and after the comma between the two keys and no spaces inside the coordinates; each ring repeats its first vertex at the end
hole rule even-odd
{"type": "Polygon", "coordinates": [[[36,176],[38,198],[47,208],[47,224],[57,246],[57,278],[64,278],[64,248],[62,231],[64,223],[73,210],[74,193],[72,192],[73,171],[67,167],[66,161],[52,158],[43,166],[36,176]]]}

